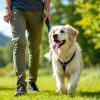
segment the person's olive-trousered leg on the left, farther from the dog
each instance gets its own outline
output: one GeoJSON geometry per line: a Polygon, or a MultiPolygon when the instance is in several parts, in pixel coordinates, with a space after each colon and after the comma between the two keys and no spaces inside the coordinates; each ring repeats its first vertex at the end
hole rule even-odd
{"type": "Polygon", "coordinates": [[[24,85],[25,82],[25,30],[26,20],[24,14],[20,10],[12,11],[11,20],[12,40],[13,40],[13,62],[17,76],[17,86],[24,85]]]}

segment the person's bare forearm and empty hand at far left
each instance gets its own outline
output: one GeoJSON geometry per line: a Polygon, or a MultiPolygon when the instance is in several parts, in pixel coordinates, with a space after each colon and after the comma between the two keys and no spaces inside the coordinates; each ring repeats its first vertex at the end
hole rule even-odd
{"type": "Polygon", "coordinates": [[[10,22],[11,21],[11,0],[5,0],[5,15],[4,15],[4,21],[10,22]]]}

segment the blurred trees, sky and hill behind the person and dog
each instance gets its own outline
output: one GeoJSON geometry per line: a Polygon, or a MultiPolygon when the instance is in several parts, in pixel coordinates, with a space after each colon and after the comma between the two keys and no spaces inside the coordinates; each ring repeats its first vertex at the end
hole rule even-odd
{"type": "MultiPolygon", "coordinates": [[[[10,25],[3,21],[4,0],[0,0],[0,75],[13,70],[10,25]]],[[[70,24],[79,30],[79,42],[85,68],[100,67],[100,1],[99,0],[51,0],[51,26],[70,24]]],[[[27,47],[26,47],[27,48],[27,47]]],[[[51,65],[44,58],[49,51],[48,31],[44,24],[40,47],[40,69],[50,73],[51,65]]],[[[28,53],[26,49],[26,66],[28,53]]]]}

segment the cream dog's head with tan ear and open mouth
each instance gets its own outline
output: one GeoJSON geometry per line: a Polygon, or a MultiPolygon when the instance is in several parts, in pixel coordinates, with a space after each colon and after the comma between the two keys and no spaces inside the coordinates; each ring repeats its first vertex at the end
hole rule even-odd
{"type": "Polygon", "coordinates": [[[59,49],[76,39],[78,31],[70,25],[53,26],[49,33],[49,42],[53,49],[59,49]]]}

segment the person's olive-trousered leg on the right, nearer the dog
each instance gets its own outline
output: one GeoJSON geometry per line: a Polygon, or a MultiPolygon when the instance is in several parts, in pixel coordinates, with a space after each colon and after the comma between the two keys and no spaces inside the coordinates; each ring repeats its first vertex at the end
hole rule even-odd
{"type": "Polygon", "coordinates": [[[29,83],[35,83],[39,67],[39,49],[42,38],[43,11],[28,14],[29,83]]]}

